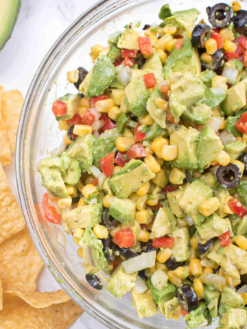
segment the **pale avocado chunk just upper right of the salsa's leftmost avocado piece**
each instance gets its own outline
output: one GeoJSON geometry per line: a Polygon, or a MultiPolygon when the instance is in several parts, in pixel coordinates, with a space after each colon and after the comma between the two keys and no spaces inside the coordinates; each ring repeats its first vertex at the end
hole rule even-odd
{"type": "Polygon", "coordinates": [[[93,164],[93,145],[95,137],[91,134],[84,134],[76,138],[69,148],[67,154],[72,158],[79,160],[82,171],[88,171],[93,164]]]}

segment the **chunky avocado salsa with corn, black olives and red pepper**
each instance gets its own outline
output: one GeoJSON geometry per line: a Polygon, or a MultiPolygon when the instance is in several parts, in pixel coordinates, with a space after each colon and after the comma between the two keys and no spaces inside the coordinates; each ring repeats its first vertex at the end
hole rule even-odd
{"type": "Polygon", "coordinates": [[[247,323],[247,12],[236,1],[127,25],[67,73],[62,147],[40,160],[45,218],[73,236],[86,280],[140,318],[247,323]]]}

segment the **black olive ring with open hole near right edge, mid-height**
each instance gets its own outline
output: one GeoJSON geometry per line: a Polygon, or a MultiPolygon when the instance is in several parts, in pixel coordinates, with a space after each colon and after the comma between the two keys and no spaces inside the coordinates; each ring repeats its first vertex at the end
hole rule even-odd
{"type": "Polygon", "coordinates": [[[235,188],[239,185],[242,172],[240,168],[233,163],[227,164],[227,166],[220,166],[216,171],[216,178],[218,182],[226,188],[235,188]]]}

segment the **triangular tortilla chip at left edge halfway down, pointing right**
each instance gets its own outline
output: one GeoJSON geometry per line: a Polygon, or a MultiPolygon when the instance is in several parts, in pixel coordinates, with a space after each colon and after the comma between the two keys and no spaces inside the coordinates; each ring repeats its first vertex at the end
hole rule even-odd
{"type": "Polygon", "coordinates": [[[23,215],[14,199],[14,195],[12,195],[0,163],[0,243],[23,230],[23,228],[25,228],[23,215]]]}

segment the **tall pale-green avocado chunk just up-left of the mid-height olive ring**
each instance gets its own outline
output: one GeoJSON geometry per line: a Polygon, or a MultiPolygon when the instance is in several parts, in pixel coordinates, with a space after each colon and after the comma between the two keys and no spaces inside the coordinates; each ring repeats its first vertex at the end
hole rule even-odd
{"type": "Polygon", "coordinates": [[[224,148],[220,137],[207,125],[199,134],[198,141],[198,166],[200,169],[209,167],[212,161],[217,159],[224,148]]]}

